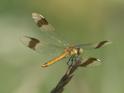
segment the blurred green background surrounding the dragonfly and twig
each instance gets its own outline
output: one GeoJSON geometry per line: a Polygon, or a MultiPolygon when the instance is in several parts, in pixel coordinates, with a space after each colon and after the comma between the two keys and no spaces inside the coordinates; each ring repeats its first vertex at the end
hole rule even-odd
{"type": "Polygon", "coordinates": [[[71,43],[111,40],[89,56],[97,67],[79,69],[64,93],[124,93],[123,0],[0,0],[0,93],[49,93],[67,66],[40,68],[42,55],[20,42],[38,30],[31,13],[39,12],[71,43]]]}

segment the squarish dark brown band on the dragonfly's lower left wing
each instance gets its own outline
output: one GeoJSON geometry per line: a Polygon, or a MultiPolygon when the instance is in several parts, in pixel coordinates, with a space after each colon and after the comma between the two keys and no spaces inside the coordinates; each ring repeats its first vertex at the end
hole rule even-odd
{"type": "Polygon", "coordinates": [[[28,43],[28,47],[35,50],[37,44],[40,43],[40,41],[36,38],[33,38],[33,37],[28,37],[28,36],[26,36],[26,37],[30,39],[30,41],[28,43]]]}

